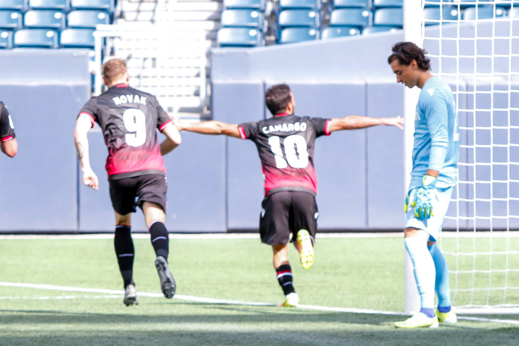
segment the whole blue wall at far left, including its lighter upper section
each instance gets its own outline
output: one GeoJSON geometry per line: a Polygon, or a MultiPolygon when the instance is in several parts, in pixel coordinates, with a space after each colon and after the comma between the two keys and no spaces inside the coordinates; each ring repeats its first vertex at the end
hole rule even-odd
{"type": "Polygon", "coordinates": [[[88,54],[19,49],[3,51],[0,64],[8,66],[0,95],[18,141],[17,156],[0,155],[0,231],[76,231],[73,133],[89,97],[88,54]]]}

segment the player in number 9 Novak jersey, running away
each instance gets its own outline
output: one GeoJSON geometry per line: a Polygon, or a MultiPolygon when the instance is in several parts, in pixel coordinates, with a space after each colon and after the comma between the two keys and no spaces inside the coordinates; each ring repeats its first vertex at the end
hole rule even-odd
{"type": "Polygon", "coordinates": [[[162,155],[179,145],[181,136],[153,95],[128,86],[124,60],[112,59],[102,68],[108,90],[81,108],[74,132],[83,184],[99,188],[98,177],[90,167],[87,138],[87,132],[97,122],[108,147],[106,171],[115,211],[115,253],[125,286],[123,302],[126,306],[138,304],[130,232],[131,213],[136,206],[141,207],[151,234],[162,293],[172,298],[175,281],[168,266],[169,237],[164,225],[167,184],[162,155]],[[156,129],[167,137],[160,145],[156,129]]]}

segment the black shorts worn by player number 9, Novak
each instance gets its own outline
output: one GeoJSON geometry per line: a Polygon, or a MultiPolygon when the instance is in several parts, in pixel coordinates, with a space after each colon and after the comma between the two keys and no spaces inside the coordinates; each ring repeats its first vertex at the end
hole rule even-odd
{"type": "Polygon", "coordinates": [[[143,202],[157,203],[166,212],[168,185],[165,175],[146,174],[112,179],[108,182],[110,183],[112,205],[117,213],[121,215],[134,213],[137,206],[142,209],[143,202]]]}

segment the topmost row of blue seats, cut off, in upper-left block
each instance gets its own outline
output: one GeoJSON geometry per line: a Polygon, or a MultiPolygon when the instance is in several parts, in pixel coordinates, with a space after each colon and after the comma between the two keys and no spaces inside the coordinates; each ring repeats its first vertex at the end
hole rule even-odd
{"type": "Polygon", "coordinates": [[[114,11],[114,0],[0,0],[0,9],[102,9],[114,11]]]}

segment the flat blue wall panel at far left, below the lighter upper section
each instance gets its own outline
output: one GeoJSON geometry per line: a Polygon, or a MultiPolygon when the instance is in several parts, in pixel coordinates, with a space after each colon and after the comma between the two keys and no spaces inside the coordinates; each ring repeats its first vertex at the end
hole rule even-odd
{"type": "Polygon", "coordinates": [[[74,109],[85,91],[85,86],[0,86],[18,141],[17,156],[0,155],[0,230],[77,229],[74,109]]]}

